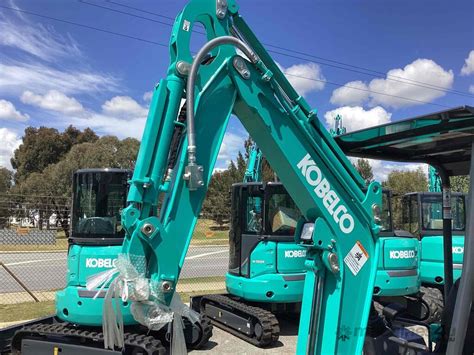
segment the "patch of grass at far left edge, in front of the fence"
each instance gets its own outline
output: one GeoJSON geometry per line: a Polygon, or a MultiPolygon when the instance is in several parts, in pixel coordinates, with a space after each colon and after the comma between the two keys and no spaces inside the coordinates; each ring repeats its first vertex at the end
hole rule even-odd
{"type": "Polygon", "coordinates": [[[15,322],[54,314],[54,301],[0,304],[2,322],[15,322]]]}

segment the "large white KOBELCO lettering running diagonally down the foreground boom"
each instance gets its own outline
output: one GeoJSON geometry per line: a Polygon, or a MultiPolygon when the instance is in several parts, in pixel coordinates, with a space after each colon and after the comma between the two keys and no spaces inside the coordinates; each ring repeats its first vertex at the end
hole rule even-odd
{"type": "Polygon", "coordinates": [[[341,202],[339,196],[331,190],[331,185],[321,173],[321,169],[316,165],[309,154],[301,159],[297,165],[298,169],[306,178],[306,181],[311,186],[314,186],[314,193],[323,200],[323,205],[329,214],[334,219],[334,222],[339,224],[339,228],[345,234],[354,230],[354,218],[347,213],[347,207],[341,202]]]}

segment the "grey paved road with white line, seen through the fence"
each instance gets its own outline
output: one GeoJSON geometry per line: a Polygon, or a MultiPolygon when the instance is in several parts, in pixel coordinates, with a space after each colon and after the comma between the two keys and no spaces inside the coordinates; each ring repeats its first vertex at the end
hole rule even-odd
{"type": "MultiPolygon", "coordinates": [[[[64,287],[67,255],[54,253],[0,253],[2,261],[33,291],[64,287]]],[[[181,278],[224,276],[229,262],[227,246],[191,246],[181,278]]],[[[0,270],[1,292],[20,292],[22,288],[5,270],[0,270]]]]}

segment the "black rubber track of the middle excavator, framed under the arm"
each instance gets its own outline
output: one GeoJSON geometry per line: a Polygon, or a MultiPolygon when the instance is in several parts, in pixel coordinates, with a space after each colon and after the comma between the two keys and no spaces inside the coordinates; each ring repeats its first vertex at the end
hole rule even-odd
{"type": "MultiPolygon", "coordinates": [[[[205,312],[205,304],[209,301],[217,305],[225,305],[232,309],[238,310],[241,313],[245,313],[249,317],[253,318],[254,321],[260,323],[262,326],[262,336],[260,339],[255,337],[249,337],[247,334],[241,333],[238,330],[228,327],[218,320],[212,319],[211,323],[216,327],[225,330],[255,346],[266,347],[276,342],[280,336],[280,325],[275,315],[263,308],[249,306],[245,303],[233,300],[232,298],[225,295],[205,295],[201,298],[201,310],[205,312]],[[204,309],[203,309],[204,308],[204,309]]],[[[204,313],[207,316],[207,314],[204,313]]],[[[254,322],[254,324],[256,323],[254,322]]]]}

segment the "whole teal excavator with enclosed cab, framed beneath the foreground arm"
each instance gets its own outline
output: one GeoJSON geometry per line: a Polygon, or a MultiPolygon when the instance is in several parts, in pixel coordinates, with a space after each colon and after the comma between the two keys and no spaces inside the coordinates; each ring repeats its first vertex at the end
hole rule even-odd
{"type": "Polygon", "coordinates": [[[214,325],[259,347],[278,340],[276,315],[298,315],[306,272],[294,237],[301,213],[282,183],[262,182],[262,162],[253,144],[243,182],[232,185],[228,293],[191,299],[214,325]]]}

